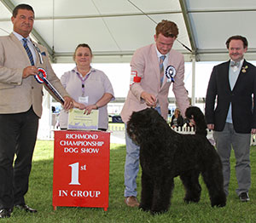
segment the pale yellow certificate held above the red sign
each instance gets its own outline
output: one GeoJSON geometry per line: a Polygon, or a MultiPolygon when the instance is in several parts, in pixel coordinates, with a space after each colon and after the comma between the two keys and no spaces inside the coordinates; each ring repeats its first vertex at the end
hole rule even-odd
{"type": "Polygon", "coordinates": [[[68,111],[67,129],[97,130],[98,122],[98,110],[91,110],[90,115],[84,114],[84,110],[78,108],[68,111]]]}

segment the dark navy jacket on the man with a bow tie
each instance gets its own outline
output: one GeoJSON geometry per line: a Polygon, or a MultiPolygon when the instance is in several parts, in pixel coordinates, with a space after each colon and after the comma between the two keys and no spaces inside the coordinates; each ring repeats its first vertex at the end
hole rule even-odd
{"type": "Polygon", "coordinates": [[[234,129],[237,133],[248,134],[256,129],[256,67],[244,60],[231,90],[229,66],[230,61],[227,61],[213,67],[206,98],[207,123],[213,123],[214,130],[222,131],[231,103],[234,129]]]}

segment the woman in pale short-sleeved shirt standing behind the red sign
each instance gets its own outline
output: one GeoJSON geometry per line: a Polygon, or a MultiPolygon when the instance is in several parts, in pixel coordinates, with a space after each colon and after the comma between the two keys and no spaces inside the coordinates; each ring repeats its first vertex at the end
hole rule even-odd
{"type": "MultiPolygon", "coordinates": [[[[99,130],[108,129],[108,102],[114,100],[113,87],[103,71],[90,66],[92,52],[90,46],[81,43],[75,49],[73,60],[76,66],[61,76],[61,83],[73,100],[84,104],[85,112],[99,110],[99,130]]],[[[61,110],[61,129],[67,129],[68,111],[61,110]]]]}

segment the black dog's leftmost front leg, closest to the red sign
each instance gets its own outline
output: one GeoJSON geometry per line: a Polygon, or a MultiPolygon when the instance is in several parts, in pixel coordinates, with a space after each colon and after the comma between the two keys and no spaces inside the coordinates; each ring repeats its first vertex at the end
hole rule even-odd
{"type": "Polygon", "coordinates": [[[148,211],[151,208],[153,200],[153,180],[147,174],[143,172],[142,174],[142,194],[141,203],[139,209],[143,211],[148,211]]]}

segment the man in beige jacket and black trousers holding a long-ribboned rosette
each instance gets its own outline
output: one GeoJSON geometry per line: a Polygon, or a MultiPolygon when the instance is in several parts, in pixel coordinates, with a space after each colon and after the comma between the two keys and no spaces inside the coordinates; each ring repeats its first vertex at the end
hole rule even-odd
{"type": "Polygon", "coordinates": [[[14,207],[37,212],[26,205],[24,196],[28,190],[38,118],[42,114],[43,87],[34,77],[38,67],[47,72],[49,82],[65,100],[64,108],[73,107],[73,100],[49,64],[46,49],[29,37],[34,22],[32,7],[16,6],[11,20],[14,31],[0,37],[0,218],[9,218],[14,207]]]}

